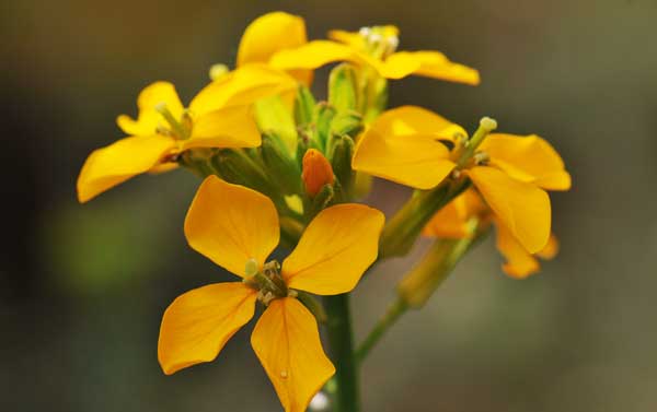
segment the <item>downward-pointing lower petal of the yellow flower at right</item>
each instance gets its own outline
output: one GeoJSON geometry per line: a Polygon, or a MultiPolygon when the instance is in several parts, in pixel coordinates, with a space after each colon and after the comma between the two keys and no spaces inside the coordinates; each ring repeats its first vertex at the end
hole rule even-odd
{"type": "Polygon", "coordinates": [[[499,221],[529,252],[545,246],[550,237],[551,208],[544,190],[494,167],[473,167],[468,175],[499,221]]]}

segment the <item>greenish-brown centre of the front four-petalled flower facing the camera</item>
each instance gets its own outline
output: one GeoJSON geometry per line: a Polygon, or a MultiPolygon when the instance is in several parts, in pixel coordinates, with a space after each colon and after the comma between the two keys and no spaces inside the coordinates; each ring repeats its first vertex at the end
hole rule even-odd
{"type": "Polygon", "coordinates": [[[295,295],[295,291],[288,290],[283,275],[280,264],[272,260],[258,270],[257,261],[249,259],[244,268],[244,283],[257,291],[257,299],[265,306],[276,298],[295,295]]]}

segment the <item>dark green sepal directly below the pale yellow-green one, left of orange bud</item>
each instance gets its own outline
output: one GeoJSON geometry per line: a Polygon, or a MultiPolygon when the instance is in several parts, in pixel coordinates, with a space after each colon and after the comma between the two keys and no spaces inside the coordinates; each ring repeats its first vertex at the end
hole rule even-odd
{"type": "Polygon", "coordinates": [[[261,146],[266,173],[284,195],[301,191],[301,168],[292,158],[285,142],[275,133],[264,133],[261,146]]]}

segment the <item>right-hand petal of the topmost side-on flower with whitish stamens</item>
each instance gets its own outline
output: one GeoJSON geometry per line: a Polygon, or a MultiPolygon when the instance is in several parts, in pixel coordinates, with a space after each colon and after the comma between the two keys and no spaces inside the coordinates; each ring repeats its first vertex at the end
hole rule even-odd
{"type": "Polygon", "coordinates": [[[480,75],[475,69],[454,63],[438,51],[392,54],[380,64],[379,72],[387,79],[402,79],[416,74],[471,85],[480,83],[480,75]]]}

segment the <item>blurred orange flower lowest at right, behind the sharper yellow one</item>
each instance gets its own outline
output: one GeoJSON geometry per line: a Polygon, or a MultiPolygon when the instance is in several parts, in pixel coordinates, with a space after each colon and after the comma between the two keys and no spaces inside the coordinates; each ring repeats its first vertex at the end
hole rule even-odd
{"type": "Polygon", "coordinates": [[[496,228],[496,246],[505,257],[503,270],[510,276],[525,279],[540,270],[537,259],[552,259],[558,251],[558,242],[551,234],[548,244],[538,252],[530,254],[511,234],[511,232],[495,217],[492,210],[482,201],[480,195],[469,189],[448,203],[431,217],[424,228],[424,236],[461,239],[472,236],[469,222],[475,217],[480,227],[491,222],[496,228]]]}

